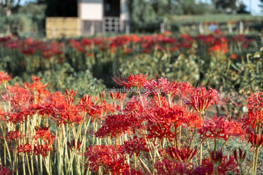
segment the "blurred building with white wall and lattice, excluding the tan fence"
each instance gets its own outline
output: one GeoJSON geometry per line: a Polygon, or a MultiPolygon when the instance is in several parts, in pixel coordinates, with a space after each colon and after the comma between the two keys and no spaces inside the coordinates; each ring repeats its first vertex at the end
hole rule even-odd
{"type": "Polygon", "coordinates": [[[129,25],[127,0],[79,0],[81,34],[123,32],[129,25]]]}

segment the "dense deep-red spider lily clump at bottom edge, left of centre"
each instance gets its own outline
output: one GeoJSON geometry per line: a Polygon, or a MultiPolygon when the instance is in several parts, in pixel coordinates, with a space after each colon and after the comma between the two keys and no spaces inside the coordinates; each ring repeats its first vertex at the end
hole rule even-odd
{"type": "Polygon", "coordinates": [[[93,145],[87,147],[87,151],[83,154],[88,158],[90,170],[97,172],[101,166],[104,173],[120,174],[129,166],[124,163],[124,156],[118,152],[120,147],[113,145],[93,145]]]}

